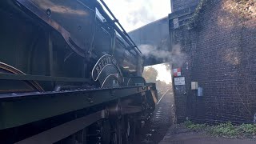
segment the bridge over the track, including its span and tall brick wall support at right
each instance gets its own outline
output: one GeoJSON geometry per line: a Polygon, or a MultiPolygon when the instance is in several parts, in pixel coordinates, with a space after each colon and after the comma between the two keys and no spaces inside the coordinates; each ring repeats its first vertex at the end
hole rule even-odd
{"type": "Polygon", "coordinates": [[[150,50],[167,50],[173,57],[147,55],[146,65],[171,61],[173,69],[181,68],[174,77],[178,122],[254,122],[256,5],[242,11],[236,2],[172,0],[168,18],[130,32],[139,46],[153,45],[150,50]],[[182,57],[178,62],[175,46],[182,57]],[[178,82],[184,78],[185,85],[178,82]]]}

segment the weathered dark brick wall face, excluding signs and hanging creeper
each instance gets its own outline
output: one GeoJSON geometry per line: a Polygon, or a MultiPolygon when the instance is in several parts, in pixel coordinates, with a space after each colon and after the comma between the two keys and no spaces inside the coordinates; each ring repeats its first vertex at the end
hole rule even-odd
{"type": "Polygon", "coordinates": [[[174,87],[178,121],[189,117],[201,122],[253,122],[256,19],[242,22],[241,15],[226,7],[228,1],[208,1],[192,30],[170,29],[174,44],[180,44],[187,57],[182,66],[186,94],[174,87]],[[190,90],[193,81],[204,89],[203,97],[190,90]]]}

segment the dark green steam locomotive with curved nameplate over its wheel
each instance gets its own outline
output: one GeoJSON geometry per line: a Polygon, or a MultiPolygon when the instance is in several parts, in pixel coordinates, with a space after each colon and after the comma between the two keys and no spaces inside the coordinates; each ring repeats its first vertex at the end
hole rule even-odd
{"type": "Polygon", "coordinates": [[[154,83],[97,0],[0,2],[0,143],[131,143],[154,83]]]}

